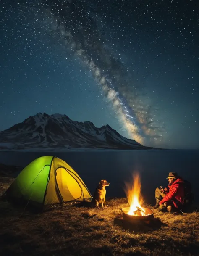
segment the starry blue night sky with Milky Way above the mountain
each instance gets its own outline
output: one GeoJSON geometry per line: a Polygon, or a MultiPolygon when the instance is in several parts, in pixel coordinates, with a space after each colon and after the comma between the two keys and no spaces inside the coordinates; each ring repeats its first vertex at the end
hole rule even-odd
{"type": "Polygon", "coordinates": [[[197,1],[6,0],[0,21],[0,131],[61,113],[199,148],[197,1]]]}

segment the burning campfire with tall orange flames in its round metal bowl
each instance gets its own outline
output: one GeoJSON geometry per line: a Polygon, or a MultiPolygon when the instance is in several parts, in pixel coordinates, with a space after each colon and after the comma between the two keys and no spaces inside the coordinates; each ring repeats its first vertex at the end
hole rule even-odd
{"type": "Polygon", "coordinates": [[[148,219],[153,216],[153,211],[142,207],[144,199],[141,196],[141,180],[139,173],[133,174],[133,182],[125,183],[125,193],[130,207],[123,208],[124,219],[148,219]]]}

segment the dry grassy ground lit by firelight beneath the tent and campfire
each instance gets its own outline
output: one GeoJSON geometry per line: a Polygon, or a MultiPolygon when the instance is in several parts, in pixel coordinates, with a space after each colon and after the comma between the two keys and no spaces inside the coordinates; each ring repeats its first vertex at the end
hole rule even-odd
{"type": "MultiPolygon", "coordinates": [[[[13,181],[0,178],[0,194],[13,181]]],[[[199,255],[199,213],[154,211],[149,224],[123,221],[126,198],[110,199],[105,210],[65,205],[32,213],[0,201],[1,256],[199,255]]]]}

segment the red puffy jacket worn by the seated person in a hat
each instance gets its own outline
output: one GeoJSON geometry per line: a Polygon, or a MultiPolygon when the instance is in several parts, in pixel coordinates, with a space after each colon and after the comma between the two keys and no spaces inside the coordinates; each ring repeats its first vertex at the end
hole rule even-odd
{"type": "Polygon", "coordinates": [[[168,185],[169,192],[165,197],[160,201],[159,205],[162,203],[173,201],[173,204],[176,208],[181,208],[181,206],[184,203],[184,185],[183,185],[183,179],[179,177],[176,179],[172,185],[168,185]]]}

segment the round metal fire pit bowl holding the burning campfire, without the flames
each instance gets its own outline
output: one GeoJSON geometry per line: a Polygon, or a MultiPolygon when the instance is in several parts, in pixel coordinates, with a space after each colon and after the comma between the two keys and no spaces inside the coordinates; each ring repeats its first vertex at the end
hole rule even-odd
{"type": "Polygon", "coordinates": [[[132,220],[143,220],[147,221],[153,218],[153,211],[149,208],[142,207],[144,210],[144,216],[137,216],[137,215],[129,215],[128,211],[130,210],[130,207],[125,207],[122,208],[122,213],[123,213],[123,219],[132,221],[132,220]]]}

